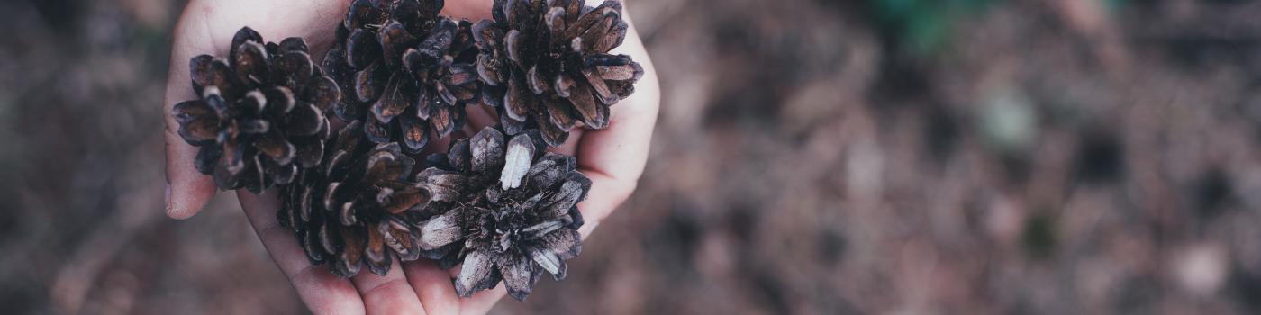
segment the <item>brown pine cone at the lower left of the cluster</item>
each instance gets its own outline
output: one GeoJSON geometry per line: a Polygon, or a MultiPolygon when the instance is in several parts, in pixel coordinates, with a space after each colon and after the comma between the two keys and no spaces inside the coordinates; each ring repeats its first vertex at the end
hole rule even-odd
{"type": "Polygon", "coordinates": [[[372,144],[358,121],[329,140],[328,159],[299,174],[282,192],[276,213],[294,231],[313,265],[332,262],[333,273],[354,276],[367,265],[377,275],[393,257],[420,257],[417,209],[429,192],[412,181],[415,160],[398,144],[372,144]]]}

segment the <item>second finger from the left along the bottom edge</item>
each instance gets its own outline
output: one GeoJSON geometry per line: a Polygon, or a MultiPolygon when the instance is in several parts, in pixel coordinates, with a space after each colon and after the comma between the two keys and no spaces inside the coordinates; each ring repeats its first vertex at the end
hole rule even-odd
{"type": "MultiPolygon", "coordinates": [[[[392,260],[392,258],[391,258],[392,260]]],[[[407,282],[402,268],[391,267],[385,276],[362,271],[351,277],[363,296],[368,314],[425,314],[416,290],[407,282]]]]}

